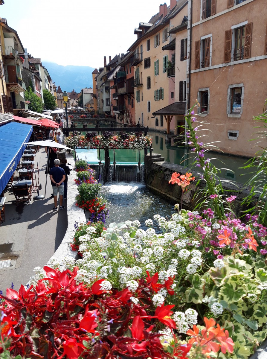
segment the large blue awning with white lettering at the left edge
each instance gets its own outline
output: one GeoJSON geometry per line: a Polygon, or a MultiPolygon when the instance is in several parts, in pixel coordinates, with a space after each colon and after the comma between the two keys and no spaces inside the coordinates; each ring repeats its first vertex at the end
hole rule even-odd
{"type": "Polygon", "coordinates": [[[15,172],[20,158],[31,137],[32,126],[9,122],[0,126],[0,194],[15,172]]]}

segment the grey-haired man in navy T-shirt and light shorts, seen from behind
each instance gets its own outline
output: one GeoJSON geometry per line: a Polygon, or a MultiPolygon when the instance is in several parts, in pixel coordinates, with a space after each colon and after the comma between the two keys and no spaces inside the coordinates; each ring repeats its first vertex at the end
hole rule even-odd
{"type": "Polygon", "coordinates": [[[54,195],[54,202],[55,207],[53,208],[54,211],[57,210],[57,193],[59,194],[59,201],[60,201],[60,209],[64,209],[65,207],[62,205],[63,203],[63,194],[64,194],[64,185],[63,182],[65,181],[66,174],[63,168],[59,167],[60,160],[55,159],[54,161],[55,167],[50,169],[50,180],[53,186],[53,195],[54,195]]]}

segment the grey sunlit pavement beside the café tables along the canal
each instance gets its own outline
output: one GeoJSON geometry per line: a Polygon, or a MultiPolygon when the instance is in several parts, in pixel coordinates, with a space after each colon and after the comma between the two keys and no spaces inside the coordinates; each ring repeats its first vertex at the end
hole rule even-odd
{"type": "MultiPolygon", "coordinates": [[[[36,153],[35,168],[37,162],[39,183],[42,184],[39,193],[45,195],[47,155],[44,147],[36,153]]],[[[37,171],[36,175],[38,177],[37,171]]],[[[34,275],[33,269],[43,267],[49,261],[65,236],[67,200],[63,200],[63,210],[53,211],[51,193],[49,174],[45,199],[32,199],[30,204],[20,203],[17,206],[12,189],[5,192],[5,222],[0,224],[0,265],[1,259],[11,258],[12,266],[0,268],[0,290],[4,294],[11,282],[15,290],[19,290],[21,284],[25,285],[34,275]]],[[[32,198],[36,195],[37,192],[33,192],[32,198]]]]}

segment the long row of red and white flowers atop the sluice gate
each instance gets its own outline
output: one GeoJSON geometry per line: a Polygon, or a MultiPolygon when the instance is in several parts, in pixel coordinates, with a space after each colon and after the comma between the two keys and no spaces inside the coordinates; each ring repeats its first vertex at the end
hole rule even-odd
{"type": "Polygon", "coordinates": [[[96,132],[88,132],[86,136],[72,135],[65,139],[68,147],[80,148],[114,148],[114,149],[143,149],[152,143],[151,136],[144,136],[142,133],[113,135],[112,132],[103,131],[102,135],[96,132]]]}

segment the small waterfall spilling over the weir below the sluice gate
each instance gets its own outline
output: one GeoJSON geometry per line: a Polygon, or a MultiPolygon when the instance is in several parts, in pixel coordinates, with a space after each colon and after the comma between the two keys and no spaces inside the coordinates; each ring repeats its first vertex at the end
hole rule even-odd
{"type": "MultiPolygon", "coordinates": [[[[110,164],[108,168],[108,182],[113,182],[114,165],[110,164]]],[[[145,183],[144,164],[117,164],[115,168],[115,182],[141,182],[145,183]]]]}

